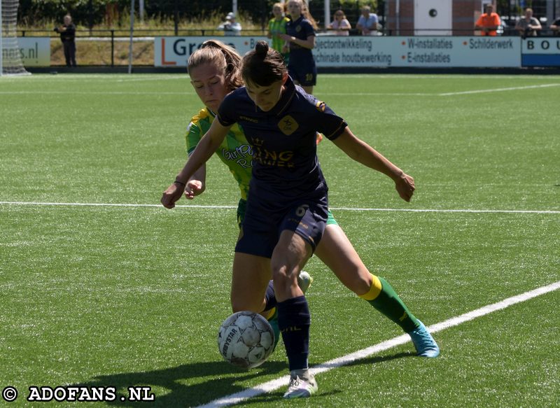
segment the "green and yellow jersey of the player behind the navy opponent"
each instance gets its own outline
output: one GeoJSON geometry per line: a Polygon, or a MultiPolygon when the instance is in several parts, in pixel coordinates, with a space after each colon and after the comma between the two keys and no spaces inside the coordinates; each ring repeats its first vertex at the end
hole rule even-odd
{"type": "MultiPolygon", "coordinates": [[[[185,138],[187,142],[187,155],[193,153],[202,136],[210,129],[210,125],[215,117],[216,115],[212,111],[204,108],[190,120],[185,138]]],[[[249,181],[251,181],[253,148],[247,142],[243,130],[241,130],[237,123],[231,127],[221,145],[218,146],[216,155],[228,166],[231,174],[239,184],[241,199],[247,199],[249,181]]]]}

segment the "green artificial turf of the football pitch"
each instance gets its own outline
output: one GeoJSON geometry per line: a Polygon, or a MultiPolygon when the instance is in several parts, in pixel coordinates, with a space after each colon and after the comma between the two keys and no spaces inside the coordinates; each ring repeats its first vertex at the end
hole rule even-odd
{"type": "MultiPolygon", "coordinates": [[[[319,76],[316,97],[416,181],[406,203],[386,176],[318,146],[339,224],[426,325],[560,281],[559,87],[559,76],[319,76]]],[[[92,407],[195,406],[287,373],[282,346],[248,372],[218,353],[239,199],[224,165],[210,160],[194,202],[159,205],[202,107],[188,76],[3,77],[0,99],[10,406],[37,406],[31,386],[78,385],[117,389],[92,407]],[[155,400],[120,400],[128,386],[155,400]]],[[[311,365],[402,334],[316,258],[306,270],[311,365]]],[[[407,343],[333,368],[289,405],[559,405],[557,304],[556,290],[441,330],[435,360],[407,343]]],[[[283,389],[241,405],[287,406],[283,389]]]]}

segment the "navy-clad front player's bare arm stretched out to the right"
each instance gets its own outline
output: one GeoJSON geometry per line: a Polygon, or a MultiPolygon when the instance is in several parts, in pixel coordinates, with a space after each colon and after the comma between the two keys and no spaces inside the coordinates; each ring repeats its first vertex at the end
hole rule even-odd
{"type": "Polygon", "coordinates": [[[414,178],[405,174],[365,141],[354,136],[348,127],[345,127],[344,132],[332,142],[356,162],[391,177],[400,197],[410,201],[414,193],[414,178]]]}

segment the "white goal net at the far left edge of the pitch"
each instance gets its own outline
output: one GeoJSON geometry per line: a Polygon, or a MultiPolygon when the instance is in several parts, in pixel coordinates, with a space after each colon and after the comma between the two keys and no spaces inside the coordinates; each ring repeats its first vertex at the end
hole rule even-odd
{"type": "Polygon", "coordinates": [[[25,71],[18,45],[16,22],[19,0],[0,0],[0,76],[28,75],[25,71]]]}

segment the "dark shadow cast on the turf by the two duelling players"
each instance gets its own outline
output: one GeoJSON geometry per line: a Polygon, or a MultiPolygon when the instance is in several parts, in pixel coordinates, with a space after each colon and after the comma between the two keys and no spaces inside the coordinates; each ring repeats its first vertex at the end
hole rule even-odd
{"type": "MultiPolygon", "coordinates": [[[[370,357],[353,361],[345,367],[354,365],[373,365],[384,361],[395,360],[403,357],[414,357],[412,353],[398,353],[393,356],[370,357]]],[[[329,365],[321,365],[329,367],[329,365]]],[[[332,368],[338,367],[333,365],[332,368]]],[[[95,377],[92,381],[73,386],[85,386],[88,388],[113,387],[117,391],[115,400],[106,402],[107,405],[116,407],[193,407],[207,404],[220,396],[230,395],[246,390],[244,381],[255,377],[269,376],[274,374],[287,374],[287,365],[284,362],[269,362],[263,367],[254,370],[238,370],[231,365],[219,362],[193,363],[179,365],[165,370],[154,370],[149,372],[126,372],[120,374],[107,374],[95,377]],[[190,384],[186,384],[190,383],[190,384]],[[155,399],[150,402],[139,402],[128,400],[127,388],[131,386],[149,386],[151,388],[165,388],[165,395],[158,395],[155,391],[155,399]]],[[[256,395],[250,400],[245,400],[239,405],[251,405],[262,403],[278,403],[281,401],[284,390],[274,391],[256,395]]],[[[342,393],[342,390],[332,390],[321,393],[321,388],[313,399],[321,405],[322,398],[342,393]]]]}

